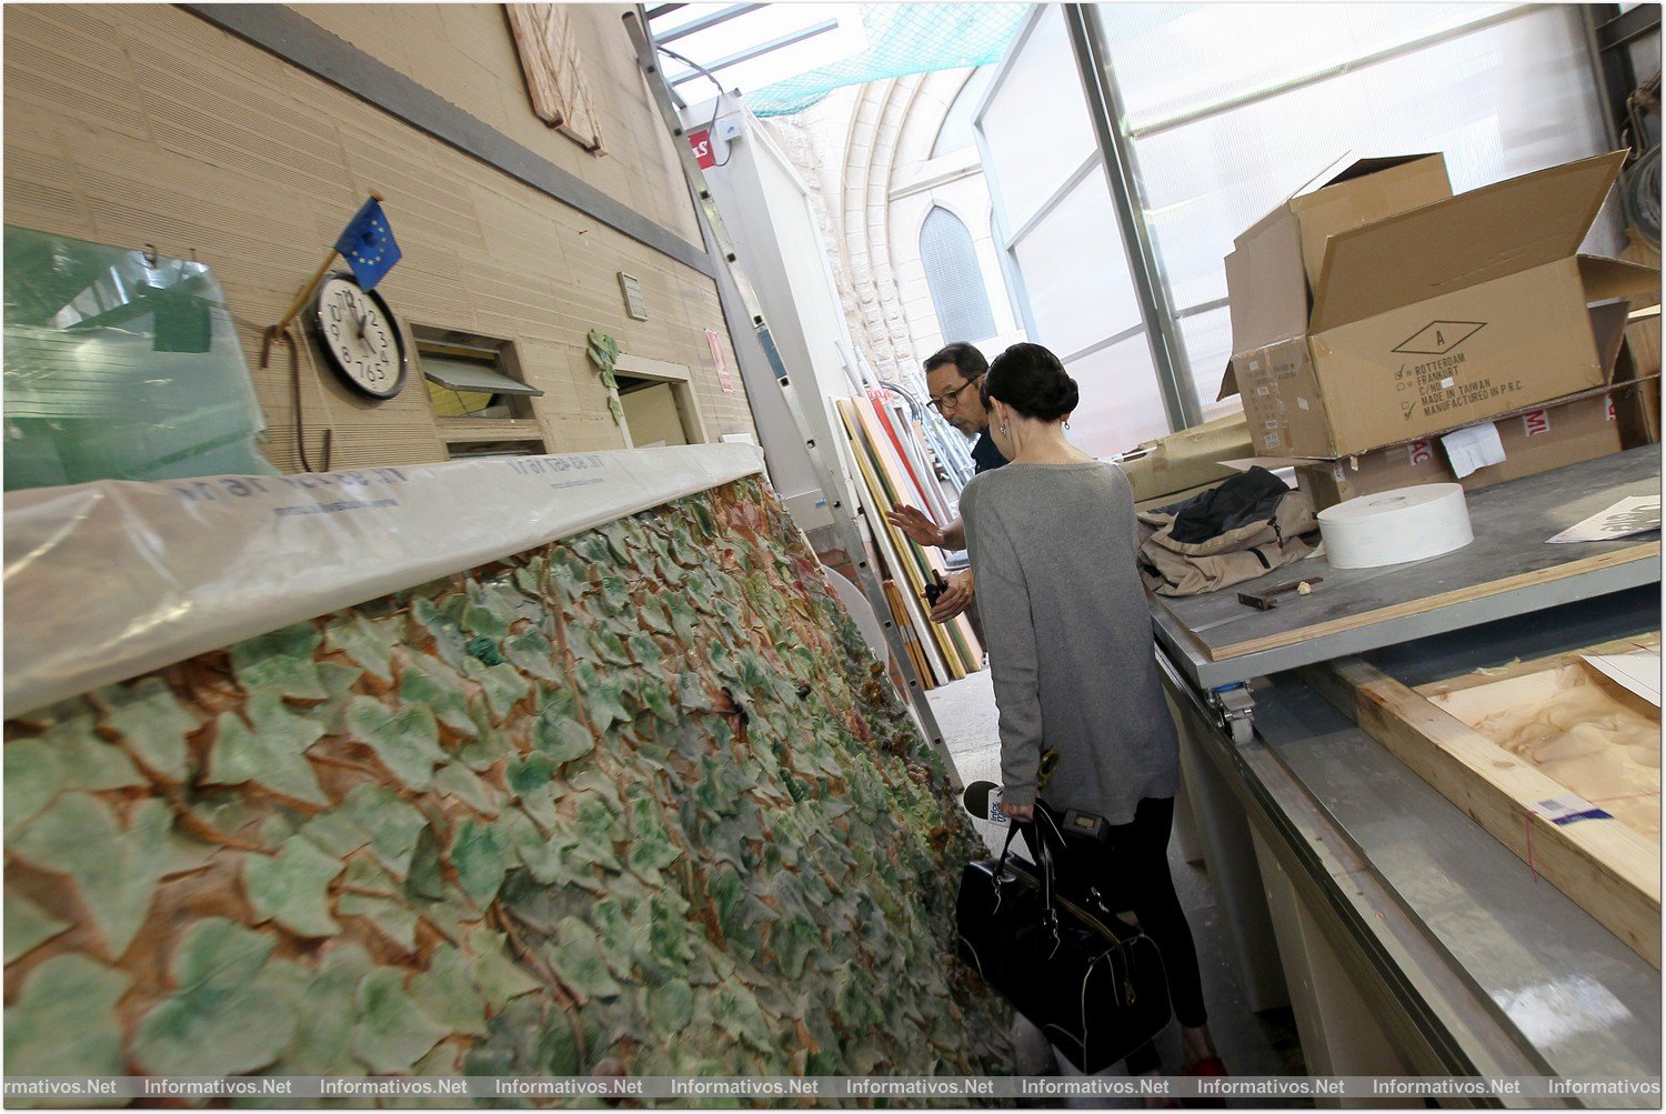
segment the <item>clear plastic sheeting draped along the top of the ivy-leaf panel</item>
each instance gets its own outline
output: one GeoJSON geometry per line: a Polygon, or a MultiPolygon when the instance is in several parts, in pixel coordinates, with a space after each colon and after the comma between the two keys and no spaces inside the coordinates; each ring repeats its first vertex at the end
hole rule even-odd
{"type": "Polygon", "coordinates": [[[5,496],[5,714],[763,471],[751,445],[5,496]]]}

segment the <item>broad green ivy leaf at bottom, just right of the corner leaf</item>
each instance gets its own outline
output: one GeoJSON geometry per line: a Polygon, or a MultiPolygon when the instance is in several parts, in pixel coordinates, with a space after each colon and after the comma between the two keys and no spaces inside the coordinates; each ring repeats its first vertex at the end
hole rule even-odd
{"type": "Polygon", "coordinates": [[[257,977],[275,946],[223,918],[193,924],[173,954],[175,994],[138,1022],[133,1057],[157,1076],[233,1076],[277,1061],[297,1019],[257,977]]]}

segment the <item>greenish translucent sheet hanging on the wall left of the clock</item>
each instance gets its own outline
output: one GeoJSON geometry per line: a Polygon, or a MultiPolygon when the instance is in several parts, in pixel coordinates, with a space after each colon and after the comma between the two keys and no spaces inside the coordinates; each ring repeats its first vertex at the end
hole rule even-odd
{"type": "Polygon", "coordinates": [[[263,431],[205,263],[7,226],[7,491],[272,476],[263,431]]]}

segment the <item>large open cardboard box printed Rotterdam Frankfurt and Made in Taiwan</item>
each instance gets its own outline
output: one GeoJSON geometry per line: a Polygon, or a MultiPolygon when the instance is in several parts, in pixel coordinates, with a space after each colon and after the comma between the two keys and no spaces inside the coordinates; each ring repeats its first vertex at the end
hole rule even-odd
{"type": "Polygon", "coordinates": [[[1656,268],[1578,255],[1623,160],[1416,203],[1434,185],[1428,158],[1414,158],[1314,195],[1351,191],[1351,208],[1294,198],[1240,236],[1226,258],[1235,355],[1223,393],[1243,395],[1256,453],[1364,453],[1603,386],[1588,306],[1659,286],[1656,268]],[[1393,188],[1368,196],[1378,175],[1393,188]],[[1326,231],[1313,278],[1324,221],[1309,231],[1306,213],[1406,203],[1326,231]]]}

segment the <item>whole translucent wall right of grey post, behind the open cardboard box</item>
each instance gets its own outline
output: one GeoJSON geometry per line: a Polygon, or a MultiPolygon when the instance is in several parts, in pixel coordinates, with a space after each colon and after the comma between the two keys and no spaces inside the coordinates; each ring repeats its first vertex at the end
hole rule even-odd
{"type": "MultiPolygon", "coordinates": [[[[1145,218],[1178,311],[1225,298],[1233,236],[1344,157],[1441,152],[1463,191],[1606,150],[1573,5],[1523,7],[1506,18],[1499,5],[1100,10],[1130,107],[1145,218]],[[1230,107],[1476,20],[1486,25],[1230,107]],[[1181,38],[1186,48],[1175,55],[1181,38]],[[1175,57],[1186,62],[1173,65],[1175,57]],[[1223,73],[1240,85],[1230,88],[1223,73]],[[1188,113],[1190,122],[1165,123],[1188,113]]],[[[1613,220],[1586,241],[1589,251],[1618,246],[1613,220]]],[[[1231,350],[1230,335],[1206,320],[1181,318],[1205,406],[1231,350]]]]}

